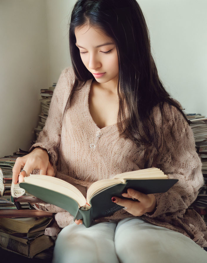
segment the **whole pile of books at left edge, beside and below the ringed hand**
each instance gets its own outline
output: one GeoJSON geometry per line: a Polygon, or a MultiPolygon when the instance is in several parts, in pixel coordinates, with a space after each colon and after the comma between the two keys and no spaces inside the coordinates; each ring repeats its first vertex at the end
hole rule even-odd
{"type": "Polygon", "coordinates": [[[36,210],[34,204],[40,199],[26,191],[22,196],[11,196],[12,168],[17,157],[28,153],[19,149],[13,156],[0,158],[0,248],[46,259],[49,253],[52,256],[54,241],[44,231],[54,213],[36,210]]]}

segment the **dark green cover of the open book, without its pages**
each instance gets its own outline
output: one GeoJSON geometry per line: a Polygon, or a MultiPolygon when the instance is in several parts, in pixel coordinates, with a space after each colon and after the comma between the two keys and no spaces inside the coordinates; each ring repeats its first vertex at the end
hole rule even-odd
{"type": "Polygon", "coordinates": [[[91,207],[89,210],[84,210],[83,207],[79,208],[79,204],[71,197],[43,186],[36,186],[27,182],[22,182],[19,185],[35,197],[65,209],[74,216],[74,221],[75,219],[82,219],[83,224],[90,227],[95,219],[113,215],[113,213],[123,208],[123,206],[111,201],[112,196],[131,200],[131,198],[125,198],[121,195],[127,193],[128,188],[133,188],[145,194],[165,193],[177,181],[178,179],[126,179],[126,183],[118,182],[116,185],[109,186],[93,195],[90,200],[91,207]]]}

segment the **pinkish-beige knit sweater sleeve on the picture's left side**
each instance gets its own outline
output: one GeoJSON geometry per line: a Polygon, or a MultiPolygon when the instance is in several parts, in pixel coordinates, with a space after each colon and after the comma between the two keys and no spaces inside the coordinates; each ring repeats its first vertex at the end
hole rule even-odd
{"type": "Polygon", "coordinates": [[[71,68],[62,70],[56,87],[51,98],[48,117],[43,130],[40,131],[39,137],[35,144],[31,146],[29,152],[40,146],[49,151],[49,161],[51,162],[54,173],[57,171],[57,148],[61,140],[62,117],[66,104],[66,93],[71,86],[71,68]]]}

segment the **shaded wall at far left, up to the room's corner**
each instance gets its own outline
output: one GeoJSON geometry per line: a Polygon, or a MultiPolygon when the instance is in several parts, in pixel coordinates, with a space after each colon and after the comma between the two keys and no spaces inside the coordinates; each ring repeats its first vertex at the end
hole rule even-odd
{"type": "Polygon", "coordinates": [[[46,2],[0,1],[0,156],[29,150],[47,87],[46,2]]]}

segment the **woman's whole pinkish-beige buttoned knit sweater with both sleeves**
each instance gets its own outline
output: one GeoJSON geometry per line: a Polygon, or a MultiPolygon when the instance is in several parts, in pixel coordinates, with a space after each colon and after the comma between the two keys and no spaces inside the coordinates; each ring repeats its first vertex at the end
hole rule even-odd
{"type": "MultiPolygon", "coordinates": [[[[62,116],[75,80],[72,67],[65,68],[59,77],[51,99],[45,126],[29,152],[40,146],[47,149],[55,177],[76,186],[86,197],[91,183],[110,179],[118,173],[144,168],[144,150],[130,139],[119,137],[117,123],[100,129],[89,112],[89,91],[93,79],[75,91],[72,106],[62,116]]],[[[159,154],[151,147],[151,167],[160,168],[168,178],[179,181],[166,193],[156,193],[157,209],[141,216],[154,225],[166,227],[191,238],[200,247],[207,247],[207,226],[202,217],[188,208],[196,199],[204,180],[191,127],[179,110],[164,103],[163,117],[156,105],[151,115],[159,138],[159,154]]],[[[151,132],[151,131],[150,131],[151,132]]],[[[38,170],[38,169],[37,169],[38,170]]],[[[38,171],[33,171],[38,173],[38,171]]],[[[38,210],[55,212],[53,225],[45,234],[54,239],[61,228],[74,223],[66,210],[44,201],[38,210]]],[[[132,217],[121,209],[96,222],[132,217]]]]}

